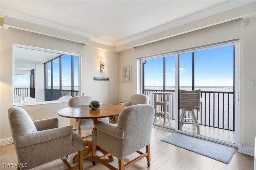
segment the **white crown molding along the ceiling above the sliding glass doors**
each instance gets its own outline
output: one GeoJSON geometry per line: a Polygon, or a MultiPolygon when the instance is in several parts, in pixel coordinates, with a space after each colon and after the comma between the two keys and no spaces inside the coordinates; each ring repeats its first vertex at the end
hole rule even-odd
{"type": "Polygon", "coordinates": [[[162,31],[166,31],[168,29],[172,29],[174,27],[178,27],[180,25],[184,25],[186,23],[190,23],[190,22],[193,22],[196,20],[200,20],[202,18],[206,18],[206,17],[212,16],[212,15],[218,14],[220,12],[231,10],[233,8],[237,8],[239,6],[243,6],[243,5],[252,3],[252,2],[255,2],[255,0],[233,0],[231,2],[228,2],[227,4],[212,8],[210,10],[206,10],[204,12],[200,12],[200,13],[192,15],[192,16],[188,16],[181,20],[173,21],[166,25],[162,25],[160,27],[150,29],[148,31],[144,31],[144,32],[134,35],[132,37],[117,41],[116,43],[114,43],[114,46],[118,47],[120,45],[124,45],[124,44],[130,43],[132,41],[136,41],[138,39],[142,39],[142,38],[148,37],[150,35],[154,35],[156,33],[160,33],[162,31]]]}

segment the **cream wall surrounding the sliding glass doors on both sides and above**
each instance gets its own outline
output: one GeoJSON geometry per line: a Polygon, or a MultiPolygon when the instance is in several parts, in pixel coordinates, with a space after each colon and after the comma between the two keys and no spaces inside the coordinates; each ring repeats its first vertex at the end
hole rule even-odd
{"type": "MultiPolygon", "coordinates": [[[[256,23],[250,18],[250,24],[237,19],[198,31],[184,33],[120,53],[119,59],[119,101],[130,99],[138,92],[138,58],[209,45],[232,39],[240,39],[240,127],[239,144],[254,149],[256,136],[256,90],[247,87],[248,80],[256,80],[256,23]],[[132,65],[132,82],[122,82],[122,67],[132,65]]],[[[249,151],[250,152],[250,151],[249,151]]]]}

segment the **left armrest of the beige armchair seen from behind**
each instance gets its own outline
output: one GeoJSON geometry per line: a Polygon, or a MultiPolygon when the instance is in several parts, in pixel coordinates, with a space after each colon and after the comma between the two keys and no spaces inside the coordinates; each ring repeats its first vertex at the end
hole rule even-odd
{"type": "Polygon", "coordinates": [[[98,131],[102,131],[110,136],[118,139],[124,139],[124,129],[117,127],[117,124],[106,123],[104,121],[97,121],[95,127],[98,131]]]}

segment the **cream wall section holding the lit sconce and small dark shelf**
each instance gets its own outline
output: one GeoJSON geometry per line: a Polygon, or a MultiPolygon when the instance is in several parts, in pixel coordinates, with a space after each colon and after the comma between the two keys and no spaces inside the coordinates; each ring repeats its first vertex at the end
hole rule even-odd
{"type": "Polygon", "coordinates": [[[84,45],[83,51],[82,93],[102,104],[118,104],[118,53],[90,45],[84,45]],[[102,57],[106,57],[104,72],[100,72],[102,57]],[[109,81],[94,81],[94,77],[109,78],[109,81]]]}

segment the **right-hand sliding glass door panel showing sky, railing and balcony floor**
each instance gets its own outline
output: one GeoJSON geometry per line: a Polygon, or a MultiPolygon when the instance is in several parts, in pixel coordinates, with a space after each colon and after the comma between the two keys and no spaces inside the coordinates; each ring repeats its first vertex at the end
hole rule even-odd
{"type": "MultiPolygon", "coordinates": [[[[195,115],[200,122],[200,135],[205,137],[231,141],[234,136],[234,48],[214,46],[178,55],[179,89],[201,90],[201,107],[195,115]],[[227,135],[216,135],[220,129],[227,130],[227,135]]],[[[191,118],[191,112],[186,117],[191,118]]],[[[196,134],[192,120],[185,122],[179,130],[196,134]]]]}

